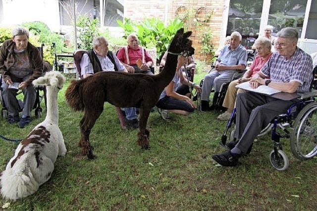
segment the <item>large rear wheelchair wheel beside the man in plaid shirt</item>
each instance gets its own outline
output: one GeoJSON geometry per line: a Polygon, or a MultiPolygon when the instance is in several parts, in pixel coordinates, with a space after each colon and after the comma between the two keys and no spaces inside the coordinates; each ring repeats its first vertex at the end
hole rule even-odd
{"type": "Polygon", "coordinates": [[[293,125],[290,145],[293,155],[300,160],[317,154],[317,103],[310,103],[298,114],[293,125]]]}

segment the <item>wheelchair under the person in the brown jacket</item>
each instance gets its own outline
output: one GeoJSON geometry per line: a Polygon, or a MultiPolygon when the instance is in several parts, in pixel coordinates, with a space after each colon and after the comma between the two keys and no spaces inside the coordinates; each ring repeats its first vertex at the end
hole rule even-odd
{"type": "MultiPolygon", "coordinates": [[[[38,49],[40,50],[40,54],[43,58],[43,46],[44,44],[42,44],[40,47],[38,47],[38,49]]],[[[48,62],[48,61],[43,61],[43,66],[44,66],[44,73],[47,71],[51,71],[53,69],[52,65],[48,62]]],[[[4,100],[3,100],[3,95],[2,95],[2,88],[1,88],[1,84],[2,84],[2,79],[1,79],[1,75],[0,75],[0,104],[2,106],[1,108],[1,117],[2,119],[7,119],[8,117],[8,110],[5,106],[4,100]]],[[[37,87],[36,89],[36,99],[35,99],[35,103],[32,109],[35,109],[34,113],[35,116],[37,118],[41,118],[42,117],[42,107],[41,107],[41,102],[44,99],[45,101],[45,107],[47,106],[47,98],[46,98],[46,88],[45,87],[37,87]]],[[[22,91],[18,91],[17,95],[21,94],[22,91]]],[[[23,108],[24,108],[24,104],[23,101],[18,99],[18,105],[19,105],[19,112],[22,112],[23,108]]]]}

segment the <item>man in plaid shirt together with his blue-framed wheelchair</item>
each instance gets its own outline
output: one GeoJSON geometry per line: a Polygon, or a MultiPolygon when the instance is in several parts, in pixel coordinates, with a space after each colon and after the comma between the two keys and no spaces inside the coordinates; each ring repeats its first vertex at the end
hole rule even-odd
{"type": "MultiPolygon", "coordinates": [[[[299,99],[301,95],[298,93],[308,93],[310,91],[310,85],[313,79],[313,62],[309,54],[297,47],[298,31],[294,28],[287,27],[282,29],[277,34],[277,37],[274,43],[277,52],[270,57],[261,71],[252,78],[250,86],[252,88],[257,88],[259,85],[269,86],[281,91],[281,93],[276,94],[276,96],[260,94],[254,91],[238,94],[236,110],[233,111],[233,113],[236,111],[234,137],[237,138],[238,141],[227,143],[225,146],[228,151],[212,156],[213,160],[222,166],[236,166],[242,155],[250,153],[254,139],[272,119],[274,119],[274,125],[276,127],[276,121],[279,119],[292,118],[294,109],[297,110],[299,107],[303,108],[306,104],[310,106],[308,110],[311,110],[312,106],[317,108],[316,103],[310,103],[312,100],[300,102],[299,99]],[[270,77],[270,79],[264,79],[266,77],[270,77]],[[285,113],[287,116],[281,115],[285,113]],[[276,116],[278,117],[275,118],[276,116]]],[[[306,97],[311,96],[314,95],[306,94],[306,97]]],[[[302,98],[306,97],[304,96],[302,98]]],[[[304,107],[302,111],[307,114],[308,110],[304,107]]],[[[305,118],[311,117],[303,117],[303,115],[301,116],[300,114],[297,116],[300,119],[296,119],[293,125],[295,127],[297,127],[296,125],[303,125],[296,122],[301,122],[305,118]]],[[[233,116],[233,114],[231,116],[233,116]]],[[[229,120],[229,122],[230,121],[231,120],[229,120]]],[[[306,121],[305,124],[308,124],[307,122],[309,121],[306,121]]],[[[315,125],[316,123],[310,124],[315,125]]],[[[299,128],[297,134],[295,134],[296,129],[298,128],[294,128],[294,136],[303,133],[304,127],[302,129],[299,128]]],[[[276,135],[274,128],[273,133],[272,139],[275,135],[274,139],[276,140],[274,140],[274,150],[271,153],[271,163],[274,166],[276,159],[273,158],[277,157],[278,162],[274,167],[279,170],[284,170],[287,168],[288,163],[287,165],[280,165],[279,162],[279,160],[287,162],[284,159],[285,154],[282,153],[281,145],[279,144],[279,138],[282,136],[276,135]]],[[[313,153],[314,155],[301,153],[298,141],[299,139],[297,137],[297,144],[293,144],[295,147],[292,147],[293,154],[295,153],[294,151],[296,151],[296,155],[294,155],[298,158],[307,159],[309,156],[314,156],[317,153],[317,146],[315,146],[316,140],[313,141],[312,144],[315,145],[313,146],[313,150],[309,153],[313,153]]],[[[225,143],[222,142],[222,144],[225,143]]]]}

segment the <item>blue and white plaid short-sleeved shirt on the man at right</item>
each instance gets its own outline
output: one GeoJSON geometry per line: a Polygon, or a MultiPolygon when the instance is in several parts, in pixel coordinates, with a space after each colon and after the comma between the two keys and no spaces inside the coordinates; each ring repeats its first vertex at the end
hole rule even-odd
{"type": "Polygon", "coordinates": [[[264,64],[261,72],[270,77],[273,82],[289,83],[299,82],[296,92],[308,92],[313,79],[313,60],[299,47],[293,56],[285,59],[278,52],[273,53],[271,58],[264,64]]]}

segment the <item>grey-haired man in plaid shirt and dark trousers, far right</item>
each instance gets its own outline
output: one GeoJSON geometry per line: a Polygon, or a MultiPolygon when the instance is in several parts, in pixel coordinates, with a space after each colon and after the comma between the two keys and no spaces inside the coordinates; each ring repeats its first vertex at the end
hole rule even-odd
{"type": "MultiPolygon", "coordinates": [[[[253,88],[267,85],[282,92],[308,92],[313,78],[312,57],[297,47],[298,31],[284,28],[277,34],[275,53],[250,81],[253,88]],[[265,79],[269,77],[270,79],[265,79]]],[[[239,158],[250,153],[261,129],[277,115],[287,111],[296,100],[284,101],[255,92],[238,94],[236,105],[237,142],[227,144],[228,151],[213,155],[222,166],[236,166],[239,158]]]]}

